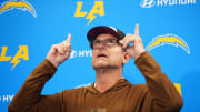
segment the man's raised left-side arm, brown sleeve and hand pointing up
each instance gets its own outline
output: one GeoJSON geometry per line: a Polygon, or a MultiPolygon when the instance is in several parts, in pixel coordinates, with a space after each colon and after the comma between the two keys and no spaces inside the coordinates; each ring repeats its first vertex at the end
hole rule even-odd
{"type": "Polygon", "coordinates": [[[27,78],[20,91],[9,105],[10,112],[59,112],[62,110],[62,93],[41,95],[44,83],[54,74],[57,67],[66,61],[71,52],[71,34],[59,44],[53,44],[47,59],[27,78]]]}

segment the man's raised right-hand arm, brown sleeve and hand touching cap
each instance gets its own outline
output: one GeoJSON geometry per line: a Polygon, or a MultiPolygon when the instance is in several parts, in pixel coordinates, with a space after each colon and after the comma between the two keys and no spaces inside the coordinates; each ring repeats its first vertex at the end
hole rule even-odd
{"type": "Polygon", "coordinates": [[[168,77],[161,72],[157,61],[144,51],[139,35],[139,24],[136,26],[134,34],[127,34],[120,43],[123,44],[127,53],[136,60],[137,67],[146,77],[148,93],[143,102],[144,105],[151,106],[156,112],[179,111],[183,103],[182,98],[168,77]],[[131,42],[133,45],[129,45],[131,42]]]}

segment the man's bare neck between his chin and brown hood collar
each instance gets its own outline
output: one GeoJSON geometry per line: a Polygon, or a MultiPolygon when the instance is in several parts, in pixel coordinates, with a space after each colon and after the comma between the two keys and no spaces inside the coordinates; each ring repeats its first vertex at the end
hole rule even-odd
{"type": "Polygon", "coordinates": [[[120,79],[123,79],[122,69],[96,70],[94,86],[102,93],[114,85],[120,79]]]}

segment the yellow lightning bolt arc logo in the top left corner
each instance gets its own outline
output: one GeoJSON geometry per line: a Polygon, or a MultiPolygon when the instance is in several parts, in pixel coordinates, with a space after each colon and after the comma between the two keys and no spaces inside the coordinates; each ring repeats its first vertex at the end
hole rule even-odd
{"type": "Polygon", "coordinates": [[[6,1],[0,7],[0,14],[13,10],[13,9],[20,9],[22,11],[29,11],[34,18],[37,18],[34,8],[26,0],[10,0],[6,1]]]}

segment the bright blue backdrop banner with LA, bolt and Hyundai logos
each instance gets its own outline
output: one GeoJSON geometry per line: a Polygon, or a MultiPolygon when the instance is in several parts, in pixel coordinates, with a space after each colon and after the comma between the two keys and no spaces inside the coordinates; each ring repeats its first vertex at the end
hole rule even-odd
{"type": "MultiPolygon", "coordinates": [[[[182,95],[181,112],[199,112],[199,11],[197,0],[0,0],[0,112],[8,111],[27,77],[68,33],[72,35],[70,59],[46,83],[42,94],[94,82],[89,29],[110,26],[134,33],[137,23],[146,50],[182,95]]],[[[133,62],[124,65],[124,78],[146,83],[133,62]]]]}

